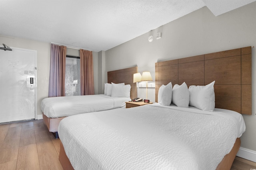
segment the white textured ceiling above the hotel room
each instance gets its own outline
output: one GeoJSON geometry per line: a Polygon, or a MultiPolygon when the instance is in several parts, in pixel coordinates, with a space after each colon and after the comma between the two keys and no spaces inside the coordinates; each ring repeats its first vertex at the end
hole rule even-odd
{"type": "Polygon", "coordinates": [[[0,35],[106,51],[204,6],[218,16],[254,1],[0,0],[0,35]]]}

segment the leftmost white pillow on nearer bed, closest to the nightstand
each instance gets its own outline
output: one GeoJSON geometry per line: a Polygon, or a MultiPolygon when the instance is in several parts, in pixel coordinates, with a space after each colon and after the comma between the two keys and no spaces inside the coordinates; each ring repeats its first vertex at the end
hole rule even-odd
{"type": "Polygon", "coordinates": [[[158,103],[164,106],[170,106],[172,103],[172,82],[166,86],[162,85],[158,90],[158,103]]]}

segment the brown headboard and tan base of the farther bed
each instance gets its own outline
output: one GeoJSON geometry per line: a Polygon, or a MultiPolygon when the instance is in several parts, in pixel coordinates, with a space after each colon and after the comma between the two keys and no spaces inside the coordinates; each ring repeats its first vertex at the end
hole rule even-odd
{"type": "MultiPolygon", "coordinates": [[[[124,84],[130,84],[131,85],[131,94],[130,98],[136,98],[137,96],[137,90],[136,90],[136,83],[133,83],[133,74],[138,72],[138,67],[130,67],[130,68],[124,68],[121,70],[114,70],[108,72],[108,83],[124,83],[124,84]]],[[[44,115],[43,113],[43,119],[44,123],[46,124],[48,130],[53,133],[55,138],[58,138],[58,132],[52,130],[52,129],[58,129],[58,125],[62,119],[65,117],[58,117],[58,118],[50,118],[44,115]],[[57,128],[56,128],[57,127],[57,128]]]]}

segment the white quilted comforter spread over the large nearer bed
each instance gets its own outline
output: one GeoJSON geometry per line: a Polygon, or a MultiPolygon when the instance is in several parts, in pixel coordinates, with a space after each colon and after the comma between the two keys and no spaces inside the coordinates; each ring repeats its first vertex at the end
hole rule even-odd
{"type": "Polygon", "coordinates": [[[245,131],[240,113],[159,106],[64,118],[58,134],[74,169],[215,170],[245,131]]]}

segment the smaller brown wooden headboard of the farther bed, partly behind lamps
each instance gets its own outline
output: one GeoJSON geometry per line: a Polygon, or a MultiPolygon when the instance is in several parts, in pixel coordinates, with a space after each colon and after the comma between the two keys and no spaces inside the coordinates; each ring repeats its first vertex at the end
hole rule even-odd
{"type": "Polygon", "coordinates": [[[133,74],[138,72],[138,67],[124,68],[121,70],[108,71],[108,83],[124,83],[131,85],[131,99],[137,97],[136,83],[133,83],[133,74]]]}

